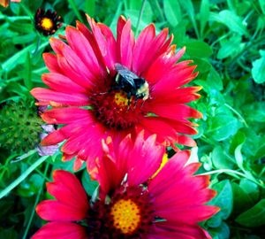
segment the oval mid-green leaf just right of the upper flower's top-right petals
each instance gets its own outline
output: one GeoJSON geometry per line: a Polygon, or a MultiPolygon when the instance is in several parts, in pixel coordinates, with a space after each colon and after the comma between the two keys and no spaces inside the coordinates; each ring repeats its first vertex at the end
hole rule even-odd
{"type": "Polygon", "coordinates": [[[213,50],[206,42],[186,42],[185,45],[186,53],[193,58],[208,58],[213,54],[213,50]]]}

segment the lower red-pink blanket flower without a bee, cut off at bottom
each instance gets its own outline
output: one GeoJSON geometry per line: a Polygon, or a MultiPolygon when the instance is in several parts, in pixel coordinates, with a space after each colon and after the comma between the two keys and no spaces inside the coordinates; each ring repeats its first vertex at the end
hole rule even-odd
{"type": "Polygon", "coordinates": [[[164,148],[155,136],[135,142],[130,136],[116,147],[102,143],[95,178],[99,197],[90,199],[72,173],[57,170],[47,184],[55,200],[44,200],[36,212],[49,223],[33,239],[84,238],[211,238],[198,226],[218,212],[205,205],[216,192],[208,189],[209,176],[193,176],[200,166],[185,166],[188,151],[178,151],[159,169],[164,148]],[[155,175],[155,176],[154,176],[155,175]]]}

